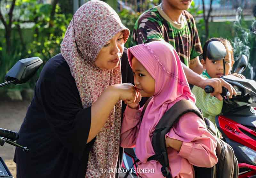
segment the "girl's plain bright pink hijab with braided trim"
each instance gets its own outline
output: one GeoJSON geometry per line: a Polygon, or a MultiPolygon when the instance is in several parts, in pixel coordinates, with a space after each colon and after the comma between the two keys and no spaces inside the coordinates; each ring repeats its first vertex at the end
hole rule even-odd
{"type": "Polygon", "coordinates": [[[155,79],[155,93],[144,113],[136,140],[136,156],[146,163],[147,159],[155,154],[151,140],[161,117],[181,99],[195,103],[195,96],[190,91],[180,58],[169,43],[154,41],[129,48],[130,66],[133,56],[155,79]]]}

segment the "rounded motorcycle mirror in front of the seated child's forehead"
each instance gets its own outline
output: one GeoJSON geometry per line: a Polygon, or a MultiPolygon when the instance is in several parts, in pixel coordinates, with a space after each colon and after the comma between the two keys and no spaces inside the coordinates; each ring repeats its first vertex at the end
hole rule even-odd
{"type": "Polygon", "coordinates": [[[226,57],[227,50],[219,41],[212,41],[207,46],[207,57],[212,61],[222,60],[226,57]]]}

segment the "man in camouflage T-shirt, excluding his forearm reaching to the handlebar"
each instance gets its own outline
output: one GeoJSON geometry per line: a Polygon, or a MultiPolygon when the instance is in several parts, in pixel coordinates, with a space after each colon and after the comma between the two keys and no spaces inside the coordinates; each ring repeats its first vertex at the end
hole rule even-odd
{"type": "Polygon", "coordinates": [[[197,74],[203,72],[198,56],[202,47],[196,23],[186,10],[192,0],[163,0],[144,12],[136,21],[132,32],[132,45],[164,40],[170,43],[180,56],[181,62],[197,74]]]}

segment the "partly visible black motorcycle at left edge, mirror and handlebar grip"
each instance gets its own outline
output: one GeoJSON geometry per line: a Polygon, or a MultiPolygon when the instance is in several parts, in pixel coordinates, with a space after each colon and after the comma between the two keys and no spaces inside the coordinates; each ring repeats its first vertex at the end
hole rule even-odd
{"type": "MultiPolygon", "coordinates": [[[[19,60],[5,75],[4,83],[0,84],[0,87],[3,87],[8,84],[22,84],[27,82],[38,70],[38,68],[43,64],[43,61],[38,58],[26,58],[19,60]]],[[[27,147],[21,146],[18,143],[15,143],[19,139],[17,132],[6,130],[0,128],[0,145],[4,146],[4,143],[9,143],[17,148],[22,149],[25,152],[28,152],[27,147]]],[[[0,157],[0,177],[1,178],[13,178],[10,170],[6,166],[4,160],[0,157]]]]}

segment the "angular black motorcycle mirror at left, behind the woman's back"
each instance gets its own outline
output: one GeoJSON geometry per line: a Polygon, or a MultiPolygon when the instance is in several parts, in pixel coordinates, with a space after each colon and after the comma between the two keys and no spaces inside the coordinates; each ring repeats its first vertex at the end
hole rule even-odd
{"type": "Polygon", "coordinates": [[[28,81],[43,64],[38,58],[20,59],[5,75],[5,83],[22,84],[28,81]]]}

